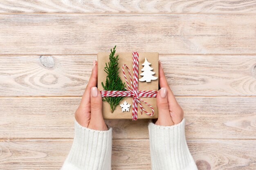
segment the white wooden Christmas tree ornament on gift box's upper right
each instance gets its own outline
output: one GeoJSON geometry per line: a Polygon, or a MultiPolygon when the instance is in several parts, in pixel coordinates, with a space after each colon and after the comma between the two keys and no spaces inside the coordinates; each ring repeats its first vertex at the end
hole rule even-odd
{"type": "Polygon", "coordinates": [[[151,71],[153,70],[152,67],[150,67],[151,63],[148,62],[147,58],[145,57],[145,62],[142,64],[144,66],[141,71],[143,71],[140,75],[143,76],[139,81],[141,82],[151,82],[151,80],[157,79],[157,77],[153,76],[155,72],[151,71]]]}

